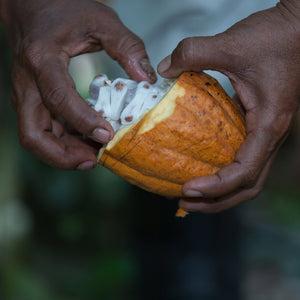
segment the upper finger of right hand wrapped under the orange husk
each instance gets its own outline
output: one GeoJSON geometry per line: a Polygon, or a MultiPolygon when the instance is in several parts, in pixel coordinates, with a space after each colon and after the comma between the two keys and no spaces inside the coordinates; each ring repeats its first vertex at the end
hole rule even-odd
{"type": "MultiPolygon", "coordinates": [[[[183,185],[185,196],[217,198],[238,189],[255,186],[265,164],[270,156],[278,151],[289,131],[279,135],[268,126],[260,125],[261,122],[266,121],[267,113],[264,110],[253,114],[257,116],[257,123],[249,126],[246,139],[237,152],[234,162],[214,175],[194,178],[185,183],[183,185]]],[[[255,123],[254,121],[248,121],[247,124],[255,123]]]]}

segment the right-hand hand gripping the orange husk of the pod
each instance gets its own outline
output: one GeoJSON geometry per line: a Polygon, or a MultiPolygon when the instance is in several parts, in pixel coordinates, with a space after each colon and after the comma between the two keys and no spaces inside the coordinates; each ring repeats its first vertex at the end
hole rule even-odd
{"type": "Polygon", "coordinates": [[[300,98],[300,1],[281,1],[216,36],[184,39],[158,66],[167,78],[208,69],[228,76],[247,126],[232,164],[183,186],[181,208],[214,213],[261,192],[289,134],[300,98]]]}

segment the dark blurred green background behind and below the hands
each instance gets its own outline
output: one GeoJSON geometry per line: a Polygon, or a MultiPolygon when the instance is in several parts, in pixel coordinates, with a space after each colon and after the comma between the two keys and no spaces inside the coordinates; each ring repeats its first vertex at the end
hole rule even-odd
{"type": "MultiPolygon", "coordinates": [[[[177,285],[167,270],[183,263],[183,258],[190,258],[193,270],[197,265],[189,254],[193,241],[198,243],[196,253],[199,244],[202,247],[217,236],[221,254],[213,258],[222,257],[230,274],[236,267],[222,256],[231,243],[230,230],[240,299],[299,299],[299,118],[257,199],[221,216],[191,214],[178,220],[175,200],[146,195],[100,166],[82,172],[53,169],[21,148],[10,106],[12,59],[0,32],[0,299],[200,299],[180,298],[180,293],[167,296],[177,285]],[[216,234],[223,232],[231,216],[238,233],[231,227],[227,235],[216,234]],[[216,222],[223,217],[225,225],[216,222]],[[203,219],[214,222],[211,236],[205,236],[211,228],[201,226],[203,219]],[[177,252],[168,266],[164,261],[173,251],[177,252]],[[161,276],[160,284],[156,276],[161,276]],[[147,295],[151,286],[157,295],[152,298],[147,295]]],[[[109,70],[101,55],[89,55],[74,60],[70,73],[87,97],[93,76],[109,70]]],[[[215,243],[207,248],[209,254],[216,251],[215,243]]],[[[207,270],[204,277],[210,267],[207,270]]]]}

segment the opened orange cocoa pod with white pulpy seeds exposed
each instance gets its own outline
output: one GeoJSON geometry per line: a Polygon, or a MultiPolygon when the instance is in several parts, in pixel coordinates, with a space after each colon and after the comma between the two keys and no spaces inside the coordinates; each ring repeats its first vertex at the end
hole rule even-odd
{"type": "MultiPolygon", "coordinates": [[[[99,81],[101,76],[94,80],[99,81]]],[[[100,149],[99,164],[142,189],[181,197],[186,181],[214,174],[234,160],[246,135],[245,120],[214,78],[206,73],[184,72],[165,86],[136,83],[131,92],[127,88],[125,93],[123,88],[132,81],[127,80],[128,84],[120,80],[107,84],[105,79],[99,89],[95,83],[90,86],[90,94],[98,94],[98,99],[89,100],[94,101],[94,107],[103,101],[101,89],[107,85],[113,89],[115,84],[115,90],[125,94],[121,97],[122,109],[122,101],[113,99],[113,90],[110,108],[98,108],[112,125],[119,124],[114,138],[100,149]],[[139,87],[145,89],[141,96],[137,96],[139,87]],[[144,104],[138,103],[145,97],[157,103],[143,111],[140,108],[144,104]],[[115,110],[114,101],[119,105],[119,120],[112,120],[112,113],[105,112],[115,110]],[[131,122],[126,124],[126,119],[131,122]]]]}

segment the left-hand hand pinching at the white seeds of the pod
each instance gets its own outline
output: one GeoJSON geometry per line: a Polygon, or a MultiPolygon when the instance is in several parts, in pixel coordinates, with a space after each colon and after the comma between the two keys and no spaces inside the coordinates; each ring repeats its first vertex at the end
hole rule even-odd
{"type": "Polygon", "coordinates": [[[143,42],[95,1],[2,0],[0,11],[13,48],[12,102],[21,144],[57,168],[94,167],[99,144],[91,140],[107,143],[113,129],[76,92],[69,60],[105,50],[130,77],[153,83],[143,42]]]}

